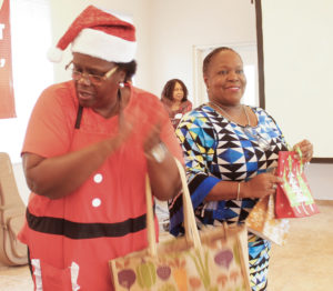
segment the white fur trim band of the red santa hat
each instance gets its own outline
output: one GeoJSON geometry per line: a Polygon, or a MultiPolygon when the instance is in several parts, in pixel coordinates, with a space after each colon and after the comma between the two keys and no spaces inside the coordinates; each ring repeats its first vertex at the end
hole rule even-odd
{"type": "Polygon", "coordinates": [[[72,42],[71,50],[110,62],[130,62],[134,59],[137,42],[85,28],[72,42]]]}

